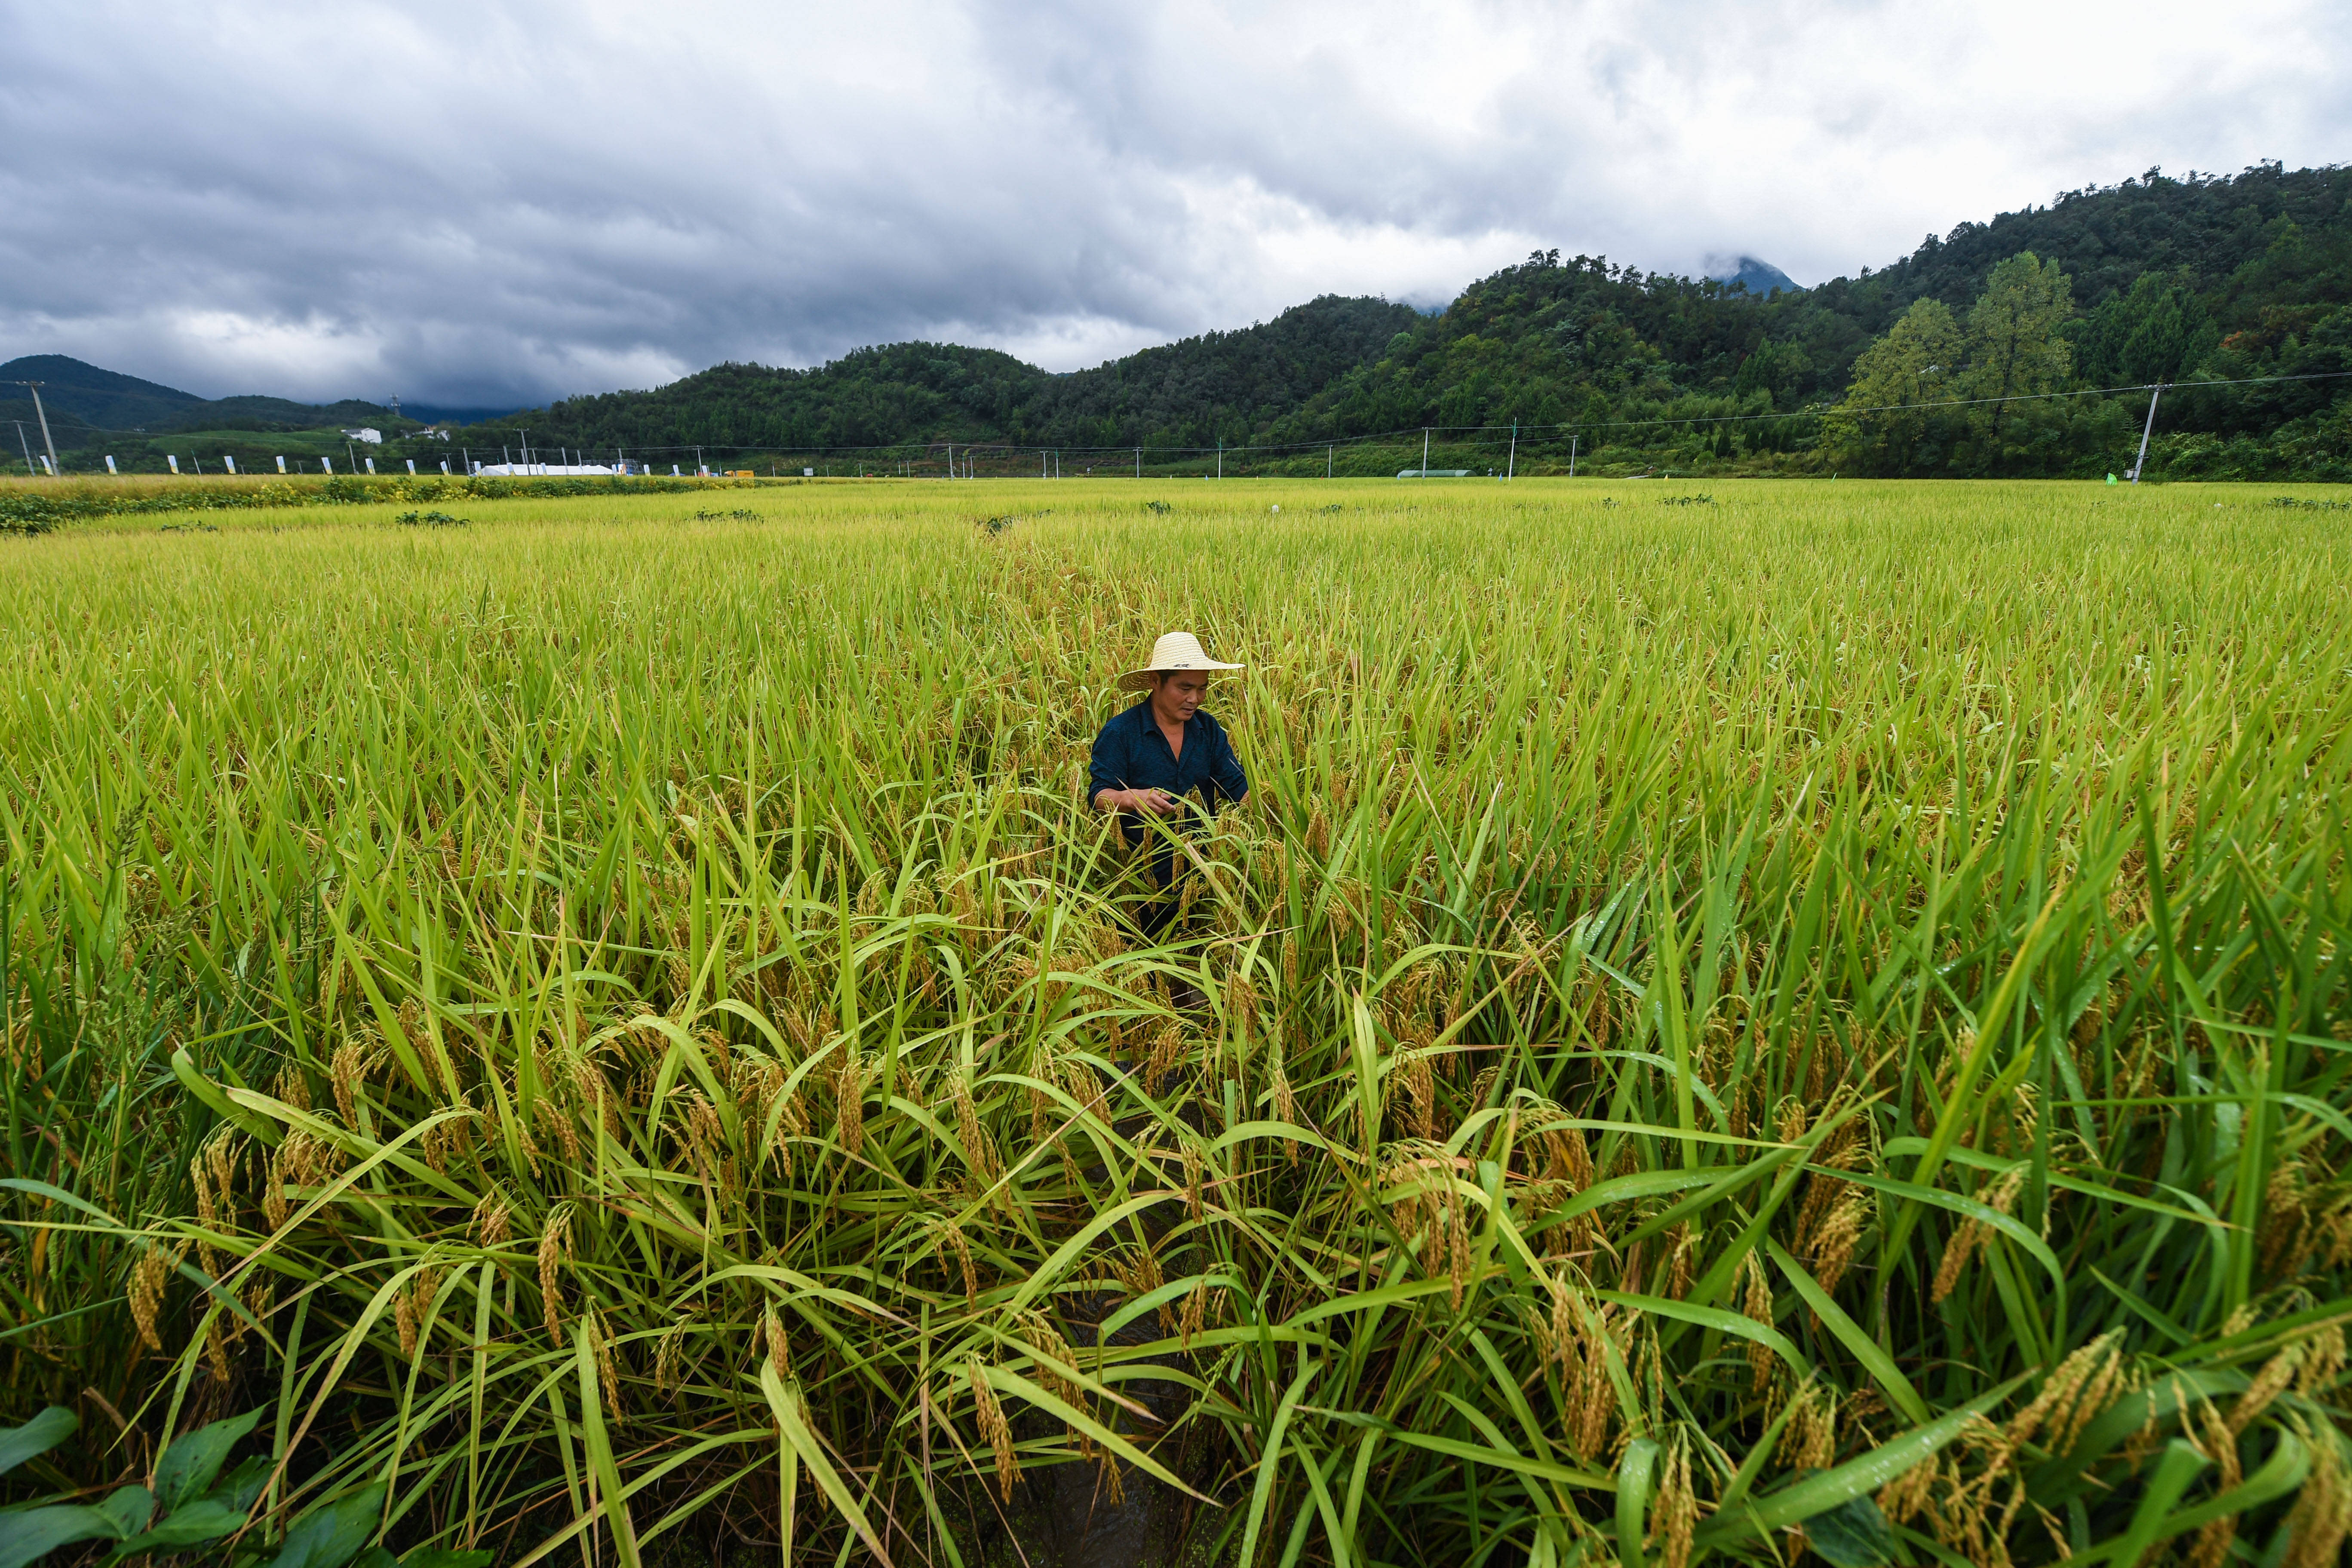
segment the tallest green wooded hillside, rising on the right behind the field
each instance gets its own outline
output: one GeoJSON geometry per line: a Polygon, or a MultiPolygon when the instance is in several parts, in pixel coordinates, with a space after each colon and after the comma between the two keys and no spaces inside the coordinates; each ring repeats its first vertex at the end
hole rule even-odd
{"type": "MultiPolygon", "coordinates": [[[[1531,256],[1265,435],[1348,440],[1519,418],[1581,425],[1581,447],[1599,447],[1602,461],[1677,473],[2098,473],[2133,456],[2145,393],[2034,402],[1999,418],[1983,404],[1922,411],[1915,440],[1882,416],[1820,411],[2352,369],[2347,200],[2345,169],[2150,174],[1964,223],[1882,273],[1771,301],[1585,256],[1531,256]],[[2018,289],[2042,296],[2027,310],[2018,289]],[[1938,315],[1947,329],[1922,336],[1938,315]],[[1896,336],[1903,322],[1912,331],[1896,336]],[[1905,343],[1933,348],[1907,381],[1905,343]]],[[[2213,477],[2352,477],[2347,388],[2173,393],[2157,461],[2213,477]]],[[[1538,461],[1550,442],[1536,437],[1538,461]]]]}

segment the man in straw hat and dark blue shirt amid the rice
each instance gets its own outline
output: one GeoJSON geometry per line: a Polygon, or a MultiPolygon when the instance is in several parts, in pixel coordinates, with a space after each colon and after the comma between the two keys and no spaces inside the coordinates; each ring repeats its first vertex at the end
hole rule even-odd
{"type": "Polygon", "coordinates": [[[1120,689],[1141,691],[1143,701],[1115,715],[1094,738],[1094,809],[1117,813],[1131,849],[1152,839],[1143,875],[1160,898],[1136,912],[1136,926],[1150,940],[1176,919],[1185,860],[1174,835],[1185,818],[1207,818],[1249,795],[1225,726],[1200,710],[1209,677],[1240,668],[1209,658],[1192,632],[1169,632],[1152,644],[1141,670],[1120,677],[1120,689]]]}

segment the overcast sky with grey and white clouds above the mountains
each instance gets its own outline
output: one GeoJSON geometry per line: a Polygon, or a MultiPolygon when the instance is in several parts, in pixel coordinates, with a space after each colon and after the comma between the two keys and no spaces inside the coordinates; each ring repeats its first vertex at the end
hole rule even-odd
{"type": "Polygon", "coordinates": [[[520,404],[1054,369],[1529,249],[1820,282],[2150,165],[2352,158],[2340,0],[0,0],[0,360],[520,404]]]}

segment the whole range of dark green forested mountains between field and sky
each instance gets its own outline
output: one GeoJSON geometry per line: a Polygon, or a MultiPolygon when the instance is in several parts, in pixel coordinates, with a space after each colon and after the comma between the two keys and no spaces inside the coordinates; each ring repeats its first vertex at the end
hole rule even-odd
{"type": "MultiPolygon", "coordinates": [[[[1430,461],[1449,468],[1545,470],[1573,451],[1599,473],[2096,475],[2131,465],[2145,388],[2171,383],[2152,473],[2352,480],[2345,371],[2352,169],[2256,165],[2067,190],[1813,289],[1757,296],[1541,252],[1435,315],[1324,296],[1073,374],[946,343],[807,371],[720,364],[475,425],[456,451],[395,442],[386,456],[520,456],[527,428],[534,454],[668,463],[699,449],[835,473],[938,473],[943,444],[995,447],[1007,473],[1035,473],[1042,447],[1065,465],[1141,447],[1164,470],[1197,456],[1225,473],[1378,473],[1418,458],[1430,430],[1430,461]]],[[[202,404],[54,355],[0,369],[12,376],[61,388],[54,425],[273,428],[346,409],[381,423],[372,404],[202,404]]],[[[61,428],[59,444],[78,442],[61,428]]]]}

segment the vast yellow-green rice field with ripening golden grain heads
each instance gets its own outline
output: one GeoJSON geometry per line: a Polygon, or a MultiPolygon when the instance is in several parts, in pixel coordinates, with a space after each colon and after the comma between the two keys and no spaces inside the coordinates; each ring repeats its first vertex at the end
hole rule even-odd
{"type": "Polygon", "coordinates": [[[2336,1563],[2298,494],[0,541],[0,1493],[259,1410],[202,1561],[2336,1563]],[[1145,943],[1084,764],[1176,628],[1254,788],[1145,943]]]}

